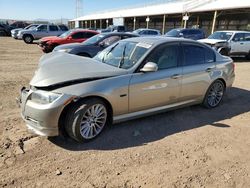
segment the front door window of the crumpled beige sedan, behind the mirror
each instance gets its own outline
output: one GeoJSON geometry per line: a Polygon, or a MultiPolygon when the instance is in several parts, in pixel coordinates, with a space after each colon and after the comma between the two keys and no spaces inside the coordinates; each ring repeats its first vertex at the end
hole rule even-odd
{"type": "Polygon", "coordinates": [[[158,70],[177,67],[178,48],[177,44],[161,45],[147,57],[146,62],[156,63],[158,70]]]}

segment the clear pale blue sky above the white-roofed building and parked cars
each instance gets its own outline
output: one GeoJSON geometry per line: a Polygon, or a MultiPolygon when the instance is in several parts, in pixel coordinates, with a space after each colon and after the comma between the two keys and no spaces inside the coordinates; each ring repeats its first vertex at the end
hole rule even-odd
{"type": "MultiPolygon", "coordinates": [[[[82,15],[163,0],[82,0],[82,15]]],[[[73,19],[76,0],[0,0],[0,19],[73,19]]]]}

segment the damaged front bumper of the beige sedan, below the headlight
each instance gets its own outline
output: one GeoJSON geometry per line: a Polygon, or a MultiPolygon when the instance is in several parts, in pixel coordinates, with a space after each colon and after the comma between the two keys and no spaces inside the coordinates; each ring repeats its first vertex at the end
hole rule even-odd
{"type": "Polygon", "coordinates": [[[68,101],[70,96],[62,95],[53,103],[39,104],[31,100],[33,92],[22,88],[17,99],[29,132],[41,136],[58,136],[60,115],[66,105],[65,101],[68,101]]]}

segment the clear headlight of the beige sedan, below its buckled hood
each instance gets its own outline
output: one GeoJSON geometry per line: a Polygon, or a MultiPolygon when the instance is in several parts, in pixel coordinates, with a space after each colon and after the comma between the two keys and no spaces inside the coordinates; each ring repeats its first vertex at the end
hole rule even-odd
{"type": "Polygon", "coordinates": [[[50,104],[54,102],[56,99],[58,99],[62,94],[60,93],[52,93],[48,91],[34,91],[31,94],[31,101],[39,104],[50,104]]]}

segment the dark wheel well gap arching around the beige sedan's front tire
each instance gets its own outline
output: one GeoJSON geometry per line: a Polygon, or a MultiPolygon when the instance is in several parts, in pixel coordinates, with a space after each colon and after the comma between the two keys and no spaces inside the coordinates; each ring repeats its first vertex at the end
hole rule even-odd
{"type": "Polygon", "coordinates": [[[107,110],[108,110],[108,114],[109,114],[109,116],[108,116],[108,121],[109,121],[108,124],[112,124],[112,122],[113,122],[113,108],[112,108],[112,105],[110,104],[110,102],[107,99],[105,99],[103,97],[100,97],[100,96],[88,96],[88,97],[84,97],[84,98],[79,98],[75,102],[72,101],[67,106],[65,106],[65,108],[63,109],[63,111],[62,111],[62,113],[60,115],[59,121],[58,121],[60,134],[63,134],[63,135],[67,134],[66,131],[65,131],[65,127],[64,127],[64,120],[65,120],[65,117],[66,117],[66,114],[67,114],[68,110],[70,108],[72,108],[72,106],[75,103],[77,103],[79,101],[82,101],[82,100],[86,100],[86,99],[99,99],[99,100],[102,100],[105,103],[105,105],[107,106],[107,110]]]}

